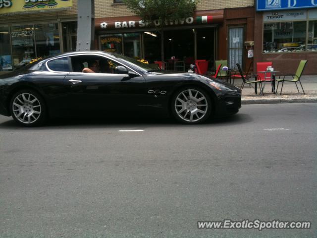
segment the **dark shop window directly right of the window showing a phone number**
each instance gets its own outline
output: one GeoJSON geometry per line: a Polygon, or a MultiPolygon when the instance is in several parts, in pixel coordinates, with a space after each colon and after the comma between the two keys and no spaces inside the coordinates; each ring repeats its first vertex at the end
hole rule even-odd
{"type": "Polygon", "coordinates": [[[58,24],[35,25],[35,41],[37,57],[59,54],[58,24]]]}

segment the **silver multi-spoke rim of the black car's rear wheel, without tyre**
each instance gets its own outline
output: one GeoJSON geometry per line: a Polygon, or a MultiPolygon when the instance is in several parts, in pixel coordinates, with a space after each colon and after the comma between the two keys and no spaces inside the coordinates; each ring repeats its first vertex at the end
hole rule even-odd
{"type": "Polygon", "coordinates": [[[33,94],[21,93],[13,100],[12,112],[20,122],[31,124],[40,118],[41,104],[33,94]]]}

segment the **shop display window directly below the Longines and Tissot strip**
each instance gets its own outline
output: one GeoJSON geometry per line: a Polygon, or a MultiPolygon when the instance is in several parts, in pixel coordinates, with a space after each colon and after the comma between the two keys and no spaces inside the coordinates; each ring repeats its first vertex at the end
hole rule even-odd
{"type": "Polygon", "coordinates": [[[306,21],[264,24],[264,53],[306,50],[306,21]]]}

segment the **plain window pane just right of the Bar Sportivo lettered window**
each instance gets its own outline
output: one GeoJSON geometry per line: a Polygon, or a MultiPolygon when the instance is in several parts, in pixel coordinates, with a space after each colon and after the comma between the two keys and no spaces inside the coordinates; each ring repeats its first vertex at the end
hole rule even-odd
{"type": "Polygon", "coordinates": [[[123,34],[124,55],[131,58],[141,58],[140,33],[123,34]]]}

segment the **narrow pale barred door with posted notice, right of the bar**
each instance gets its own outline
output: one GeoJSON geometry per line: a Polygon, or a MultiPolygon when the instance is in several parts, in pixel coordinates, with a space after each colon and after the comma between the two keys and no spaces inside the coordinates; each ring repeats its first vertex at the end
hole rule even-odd
{"type": "Polygon", "coordinates": [[[229,28],[228,64],[231,69],[237,69],[236,63],[243,67],[244,27],[229,28]]]}

